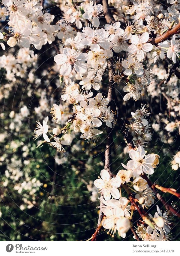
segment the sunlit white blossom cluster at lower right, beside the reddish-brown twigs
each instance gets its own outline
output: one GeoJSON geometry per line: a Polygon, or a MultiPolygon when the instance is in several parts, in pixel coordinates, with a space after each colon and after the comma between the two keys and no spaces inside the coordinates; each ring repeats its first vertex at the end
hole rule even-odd
{"type": "MultiPolygon", "coordinates": [[[[137,150],[129,150],[129,156],[131,160],[128,161],[127,165],[122,163],[124,169],[119,170],[116,177],[112,178],[109,172],[104,169],[101,171],[101,178],[99,177],[94,182],[95,186],[103,194],[104,199],[100,198],[100,200],[106,206],[102,209],[106,216],[102,221],[102,225],[105,229],[109,229],[108,232],[111,235],[114,235],[117,230],[118,234],[123,238],[131,226],[131,210],[129,200],[121,196],[121,189],[118,188],[124,185],[126,191],[132,190],[136,192],[135,198],[137,201],[143,207],[150,207],[154,204],[154,193],[141,175],[143,173],[153,174],[154,168],[159,163],[159,156],[156,154],[146,155],[146,151],[142,146],[138,147],[137,150]]],[[[163,218],[158,218],[155,215],[155,218],[151,217],[151,219],[156,225],[164,227],[163,218]]]]}

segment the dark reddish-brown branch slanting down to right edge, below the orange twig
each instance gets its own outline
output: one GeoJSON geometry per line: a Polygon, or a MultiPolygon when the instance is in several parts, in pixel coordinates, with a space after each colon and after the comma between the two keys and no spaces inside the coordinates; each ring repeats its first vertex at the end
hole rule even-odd
{"type": "Polygon", "coordinates": [[[155,184],[153,184],[150,179],[148,179],[148,177],[146,176],[146,174],[142,174],[142,178],[145,179],[148,182],[148,185],[150,188],[152,188],[153,192],[155,193],[155,195],[157,196],[157,198],[162,202],[162,204],[164,205],[164,207],[170,211],[171,213],[173,213],[174,215],[180,217],[180,213],[178,211],[176,211],[173,207],[171,207],[165,200],[164,198],[161,196],[161,194],[158,193],[158,191],[155,188],[155,184]]]}

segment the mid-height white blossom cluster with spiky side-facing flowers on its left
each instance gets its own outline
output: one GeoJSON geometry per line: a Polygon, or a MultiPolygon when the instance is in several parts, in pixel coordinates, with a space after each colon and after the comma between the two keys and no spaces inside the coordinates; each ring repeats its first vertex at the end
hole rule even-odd
{"type": "MultiPolygon", "coordinates": [[[[114,122],[115,113],[107,107],[109,99],[102,96],[102,93],[98,93],[93,97],[93,92],[86,93],[83,90],[78,90],[76,84],[71,87],[66,87],[64,94],[61,95],[61,99],[69,104],[73,105],[73,112],[71,118],[66,122],[66,129],[73,129],[74,132],[81,132],[81,138],[89,140],[97,140],[97,136],[102,133],[97,128],[105,122],[107,126],[112,128],[114,122]]],[[[56,120],[56,124],[63,119],[66,109],[62,105],[58,106],[53,104],[52,106],[52,118],[56,120]]],[[[35,139],[43,135],[44,140],[49,143],[50,146],[55,147],[59,151],[65,151],[62,145],[70,146],[69,142],[57,137],[64,130],[59,126],[53,128],[52,137],[54,142],[50,142],[48,133],[48,117],[43,121],[43,125],[37,121],[35,128],[35,139]]]]}

